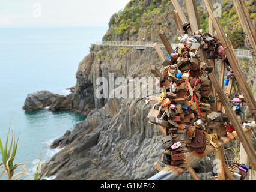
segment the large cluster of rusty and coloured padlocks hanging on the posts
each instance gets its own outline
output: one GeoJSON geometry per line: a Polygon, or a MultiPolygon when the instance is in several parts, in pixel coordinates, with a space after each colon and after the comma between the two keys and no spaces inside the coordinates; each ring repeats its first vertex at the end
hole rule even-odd
{"type": "MultiPolygon", "coordinates": [[[[162,142],[160,161],[168,165],[186,167],[188,152],[203,153],[207,143],[217,148],[218,140],[227,131],[234,131],[228,121],[227,114],[215,112],[211,105],[216,102],[213,97],[208,74],[213,67],[207,66],[201,59],[204,52],[207,59],[228,61],[225,47],[216,37],[202,34],[199,30],[194,34],[180,32],[180,43],[174,53],[162,62],[163,79],[156,85],[165,89],[160,97],[148,97],[147,104],[153,105],[148,113],[151,124],[162,127],[165,135],[162,142]]],[[[153,72],[152,72],[153,73],[153,72]]],[[[228,73],[224,85],[233,77],[232,70],[228,73]]],[[[243,98],[236,98],[239,103],[243,98]]],[[[236,106],[241,112],[242,107],[236,106]]]]}

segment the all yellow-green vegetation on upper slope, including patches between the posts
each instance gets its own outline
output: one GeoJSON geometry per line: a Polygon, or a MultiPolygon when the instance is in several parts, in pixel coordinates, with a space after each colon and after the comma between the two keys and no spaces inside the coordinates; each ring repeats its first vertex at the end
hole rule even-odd
{"type": "MultiPolygon", "coordinates": [[[[203,8],[197,2],[198,16],[203,32],[208,31],[208,17],[206,8],[203,8]]],[[[247,0],[246,7],[248,8],[251,19],[256,18],[256,2],[247,0]]],[[[181,5],[181,4],[180,4],[181,5]]],[[[184,2],[183,2],[184,5],[184,2]]],[[[182,5],[181,5],[182,6],[182,5]]],[[[183,7],[184,8],[184,7],[183,7]]],[[[138,41],[145,37],[146,41],[157,41],[154,35],[151,38],[146,38],[148,34],[154,32],[151,28],[163,28],[166,23],[171,23],[173,20],[172,11],[174,7],[170,0],[131,0],[124,10],[118,11],[112,15],[109,21],[109,30],[106,32],[103,40],[105,41],[138,41]]],[[[183,9],[186,11],[186,8],[183,9]]],[[[220,22],[224,31],[227,33],[233,43],[234,48],[245,47],[245,37],[243,35],[242,26],[233,6],[233,2],[229,0],[222,1],[222,17],[220,22]]],[[[186,14],[186,13],[185,13],[186,14]]],[[[175,36],[172,35],[172,40],[175,41],[175,36]]]]}

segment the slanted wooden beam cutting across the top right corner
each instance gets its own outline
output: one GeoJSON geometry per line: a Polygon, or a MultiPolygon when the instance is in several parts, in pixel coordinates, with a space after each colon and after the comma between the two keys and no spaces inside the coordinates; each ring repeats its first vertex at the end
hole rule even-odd
{"type": "Polygon", "coordinates": [[[242,25],[243,32],[245,33],[246,38],[248,40],[247,43],[248,43],[248,46],[249,46],[249,50],[252,53],[252,58],[254,59],[254,63],[256,64],[256,44],[255,44],[255,41],[254,41],[254,37],[252,36],[249,25],[245,20],[245,17],[243,15],[242,10],[241,10],[241,5],[240,5],[239,0],[233,0],[233,3],[234,3],[234,7],[236,8],[237,16],[240,20],[240,24],[242,25]]]}

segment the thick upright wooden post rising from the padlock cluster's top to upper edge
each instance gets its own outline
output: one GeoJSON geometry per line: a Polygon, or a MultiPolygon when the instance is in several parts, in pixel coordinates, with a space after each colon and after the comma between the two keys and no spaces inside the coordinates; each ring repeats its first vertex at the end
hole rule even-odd
{"type": "Polygon", "coordinates": [[[189,16],[189,23],[192,32],[198,31],[201,29],[199,17],[197,14],[197,6],[195,5],[195,0],[185,0],[187,15],[189,16]]]}

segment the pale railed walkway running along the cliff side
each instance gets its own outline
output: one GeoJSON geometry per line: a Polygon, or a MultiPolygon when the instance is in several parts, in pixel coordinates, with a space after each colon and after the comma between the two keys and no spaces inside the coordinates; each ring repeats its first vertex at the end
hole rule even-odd
{"type": "MultiPolygon", "coordinates": [[[[135,47],[136,49],[146,49],[147,47],[154,47],[154,43],[144,41],[101,41],[96,42],[97,46],[124,46],[135,47]]],[[[171,44],[172,47],[177,47],[178,44],[171,44]]],[[[159,47],[164,47],[163,44],[159,44],[159,47]]],[[[249,50],[235,49],[236,56],[239,58],[246,57],[252,58],[249,50]]]]}

